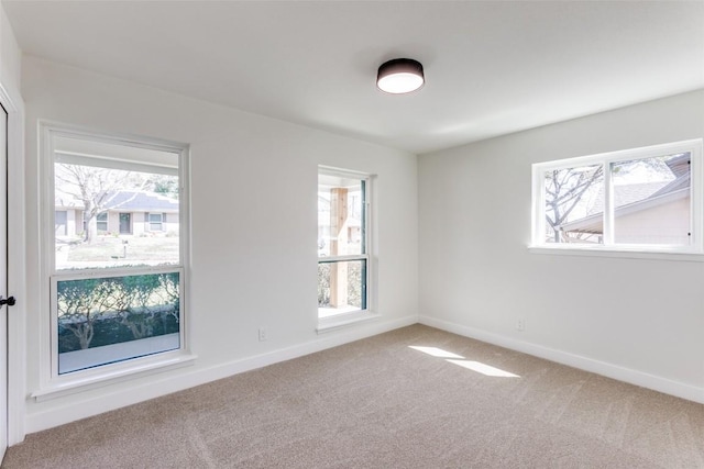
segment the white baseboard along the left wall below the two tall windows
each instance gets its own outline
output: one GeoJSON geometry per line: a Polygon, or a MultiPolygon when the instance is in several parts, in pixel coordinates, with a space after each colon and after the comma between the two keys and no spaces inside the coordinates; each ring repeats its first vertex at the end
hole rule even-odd
{"type": "MultiPolygon", "coordinates": [[[[418,316],[405,316],[396,320],[384,321],[380,317],[376,321],[369,321],[355,324],[340,331],[337,334],[319,336],[314,340],[290,347],[272,350],[266,354],[255,355],[210,368],[198,369],[196,367],[182,368],[176,376],[156,373],[148,382],[134,386],[130,389],[109,390],[109,387],[101,388],[106,392],[92,399],[86,399],[75,404],[50,409],[42,412],[26,414],[25,431],[28,434],[41,432],[80,418],[90,417],[103,412],[136,404],[150,399],[160,398],[195,386],[205,384],[222,378],[228,378],[244,371],[262,368],[279,361],[290,360],[304,355],[321,351],[327,348],[337,347],[350,342],[371,337],[399,327],[418,323],[418,316]]],[[[20,442],[18,442],[20,443],[20,442]]]]}

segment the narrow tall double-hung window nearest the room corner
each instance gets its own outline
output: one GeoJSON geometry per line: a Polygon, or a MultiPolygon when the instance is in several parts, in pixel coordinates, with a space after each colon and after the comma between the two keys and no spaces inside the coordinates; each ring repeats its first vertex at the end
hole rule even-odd
{"type": "Polygon", "coordinates": [[[318,317],[369,310],[370,178],[318,174],[318,317]]]}

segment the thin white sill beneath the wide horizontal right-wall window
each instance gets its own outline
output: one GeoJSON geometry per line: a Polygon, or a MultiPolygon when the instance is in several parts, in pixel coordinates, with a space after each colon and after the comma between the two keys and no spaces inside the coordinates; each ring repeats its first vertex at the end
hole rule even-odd
{"type": "Polygon", "coordinates": [[[627,248],[627,247],[605,247],[605,246],[590,246],[590,247],[574,247],[574,246],[544,246],[544,245],[529,245],[528,252],[531,254],[548,254],[557,256],[587,256],[587,257],[610,257],[623,259],[651,259],[651,260],[680,260],[691,263],[703,263],[704,253],[694,250],[673,250],[673,249],[648,249],[645,250],[641,247],[627,248]]]}

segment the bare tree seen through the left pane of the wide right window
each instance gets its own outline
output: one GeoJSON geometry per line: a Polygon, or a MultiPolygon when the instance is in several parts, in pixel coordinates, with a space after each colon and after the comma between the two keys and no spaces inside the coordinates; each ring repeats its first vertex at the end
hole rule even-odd
{"type": "Polygon", "coordinates": [[[546,172],[546,221],[552,228],[556,243],[564,242],[560,226],[595,183],[603,181],[604,168],[564,168],[546,172]]]}

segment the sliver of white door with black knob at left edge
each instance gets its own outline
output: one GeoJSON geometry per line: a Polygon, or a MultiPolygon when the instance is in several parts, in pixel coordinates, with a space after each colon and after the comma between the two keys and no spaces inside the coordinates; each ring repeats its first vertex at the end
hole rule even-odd
{"type": "Polygon", "coordinates": [[[0,460],[8,448],[8,112],[0,105],[0,460]]]}

